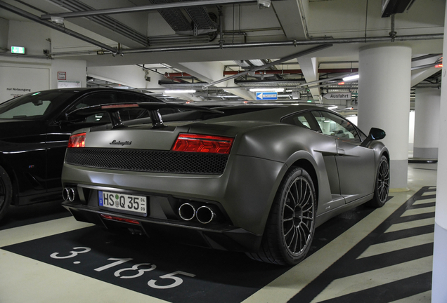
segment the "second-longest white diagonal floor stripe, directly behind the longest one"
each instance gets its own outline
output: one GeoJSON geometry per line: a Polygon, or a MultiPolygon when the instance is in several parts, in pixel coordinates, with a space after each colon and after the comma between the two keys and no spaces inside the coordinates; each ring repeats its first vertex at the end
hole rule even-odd
{"type": "Polygon", "coordinates": [[[412,236],[408,238],[401,238],[399,240],[388,241],[384,243],[379,243],[375,245],[370,245],[357,259],[363,257],[371,257],[374,255],[380,255],[383,253],[391,253],[396,250],[401,250],[404,248],[411,248],[417,245],[423,245],[428,243],[433,243],[434,233],[422,234],[419,236],[412,236]]]}

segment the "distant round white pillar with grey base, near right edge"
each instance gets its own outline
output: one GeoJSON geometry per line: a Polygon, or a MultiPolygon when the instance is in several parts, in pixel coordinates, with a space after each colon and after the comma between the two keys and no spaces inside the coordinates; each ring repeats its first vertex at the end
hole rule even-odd
{"type": "Polygon", "coordinates": [[[416,88],[413,157],[438,159],[441,90],[416,88]]]}

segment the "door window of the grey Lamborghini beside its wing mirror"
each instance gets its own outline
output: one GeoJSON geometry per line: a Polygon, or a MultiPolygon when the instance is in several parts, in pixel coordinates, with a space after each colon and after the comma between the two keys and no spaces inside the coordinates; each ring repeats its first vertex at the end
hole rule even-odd
{"type": "Polygon", "coordinates": [[[329,112],[315,111],[312,113],[323,134],[344,140],[361,141],[355,126],[348,120],[329,112]]]}

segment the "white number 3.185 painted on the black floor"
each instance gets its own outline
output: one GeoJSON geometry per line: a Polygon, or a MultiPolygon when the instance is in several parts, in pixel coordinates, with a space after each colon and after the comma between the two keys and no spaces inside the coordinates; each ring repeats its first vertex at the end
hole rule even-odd
{"type": "MultiPolygon", "coordinates": [[[[71,257],[76,257],[79,254],[82,253],[89,253],[89,251],[91,251],[91,248],[88,247],[76,247],[73,248],[73,250],[71,250],[69,253],[69,255],[59,255],[59,253],[52,253],[50,255],[50,257],[52,257],[53,259],[68,259],[71,257]]],[[[121,264],[124,264],[126,262],[129,262],[131,260],[133,260],[132,258],[108,258],[109,261],[115,261],[112,262],[110,264],[106,264],[103,267],[98,267],[96,269],[94,269],[95,271],[104,271],[106,269],[110,269],[112,267],[117,267],[121,264]]],[[[138,278],[139,276],[143,276],[143,274],[145,274],[145,272],[147,271],[153,271],[154,269],[157,268],[157,265],[154,264],[150,264],[150,263],[140,263],[140,264],[135,264],[132,267],[128,267],[128,268],[123,268],[123,269],[118,269],[117,271],[115,271],[115,276],[119,277],[119,278],[138,278]],[[150,267],[148,267],[150,266],[150,267]],[[148,267],[148,268],[144,268],[144,267],[148,267]],[[127,271],[136,271],[136,274],[130,275],[130,276],[126,276],[123,275],[124,273],[126,273],[127,271]]],[[[127,273],[129,274],[129,273],[127,273]]],[[[183,276],[189,276],[189,277],[194,277],[195,274],[190,274],[187,273],[185,271],[174,271],[173,273],[170,274],[165,274],[163,276],[160,276],[160,279],[170,279],[172,280],[170,284],[168,285],[157,285],[157,280],[155,279],[151,279],[150,281],[148,281],[148,285],[151,288],[157,288],[157,289],[167,289],[167,288],[174,288],[176,286],[181,285],[181,283],[183,283],[183,279],[180,278],[179,276],[176,275],[183,275],[183,276]]]]}

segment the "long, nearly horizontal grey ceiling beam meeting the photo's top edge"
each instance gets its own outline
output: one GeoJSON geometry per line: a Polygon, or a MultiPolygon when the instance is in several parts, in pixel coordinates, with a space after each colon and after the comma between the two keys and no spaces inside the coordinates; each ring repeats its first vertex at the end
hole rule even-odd
{"type": "Polygon", "coordinates": [[[168,4],[151,4],[147,6],[134,6],[127,8],[106,8],[96,11],[78,11],[70,13],[57,13],[41,15],[41,19],[51,19],[51,17],[61,17],[61,18],[77,18],[77,17],[87,17],[92,15],[112,15],[117,13],[135,13],[141,11],[156,11],[163,8],[186,8],[192,6],[212,6],[219,4],[244,4],[247,2],[256,3],[257,0],[204,0],[204,1],[188,1],[188,2],[171,2],[168,4]]]}

